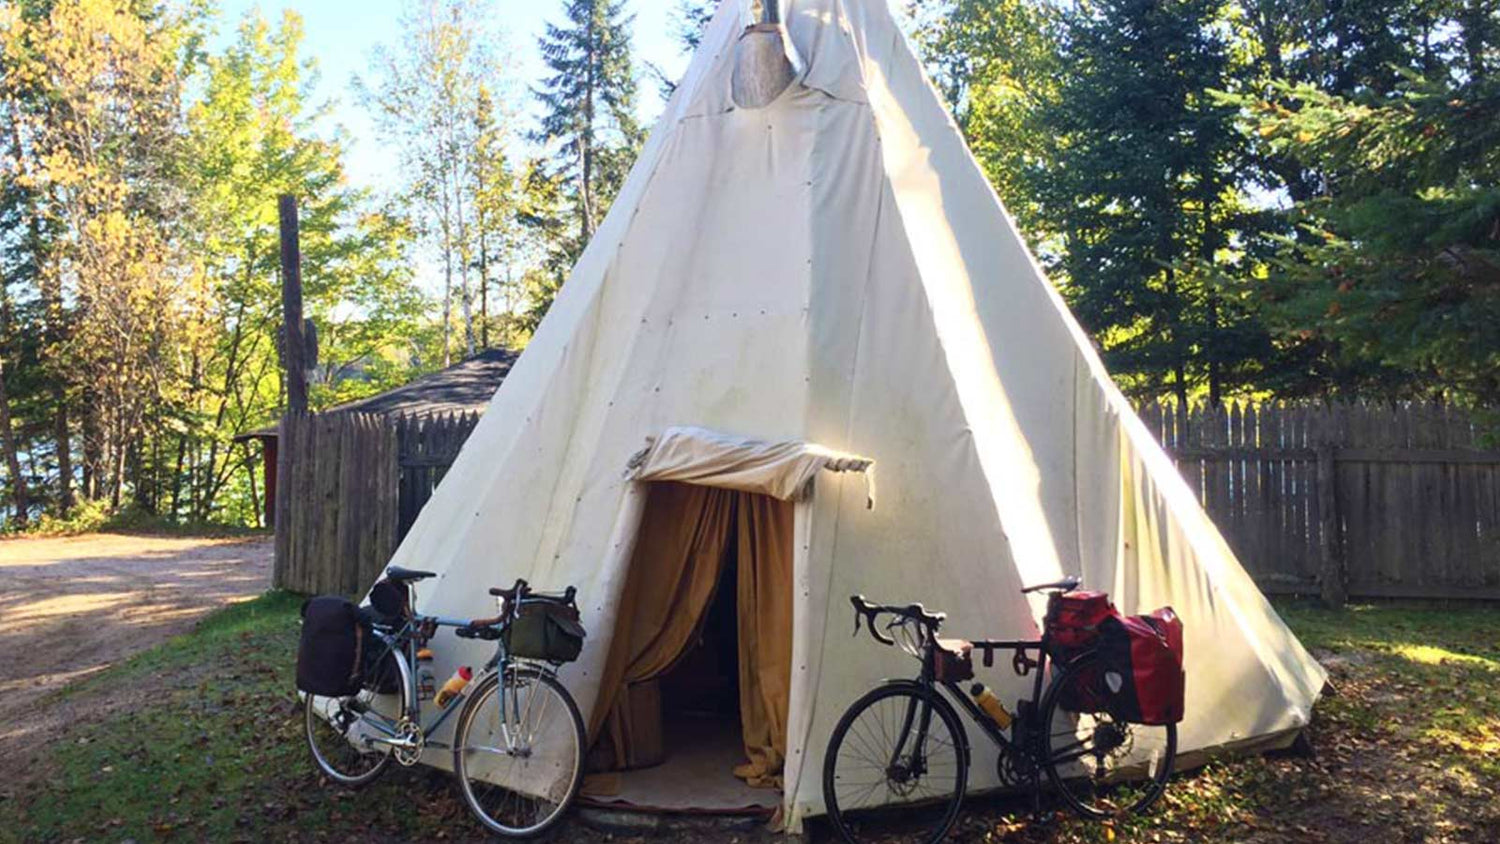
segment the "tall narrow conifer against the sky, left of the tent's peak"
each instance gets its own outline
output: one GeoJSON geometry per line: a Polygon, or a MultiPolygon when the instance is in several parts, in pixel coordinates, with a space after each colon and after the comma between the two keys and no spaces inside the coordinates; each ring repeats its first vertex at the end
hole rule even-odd
{"type": "MultiPolygon", "coordinates": [[[[534,139],[554,150],[572,195],[580,250],[604,219],[640,144],[626,0],[567,0],[566,25],[540,39],[550,75],[534,88],[544,108],[534,139]]],[[[576,256],[576,255],[573,255],[576,256]]]]}

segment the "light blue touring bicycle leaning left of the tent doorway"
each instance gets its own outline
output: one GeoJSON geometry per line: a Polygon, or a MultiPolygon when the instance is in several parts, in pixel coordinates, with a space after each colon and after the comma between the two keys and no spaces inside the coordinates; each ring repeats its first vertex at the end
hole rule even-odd
{"type": "MultiPolygon", "coordinates": [[[[402,589],[428,577],[435,574],[396,565],[386,570],[386,579],[402,589]]],[[[532,603],[576,609],[576,592],[572,586],[562,594],[532,592],[525,580],[516,580],[510,589],[489,594],[500,598],[501,612],[488,619],[418,615],[410,606],[392,616],[362,607],[380,649],[368,664],[393,666],[399,682],[384,691],[381,672],[372,672],[376,676],[354,696],[308,694],[308,745],[324,775],[356,789],[372,783],[392,760],[412,766],[428,748],[452,750],[453,774],[474,817],[500,835],[528,838],[555,825],[578,796],[586,750],[584,718],[552,664],[507,652],[506,631],[532,603]],[[422,724],[412,666],[417,649],[440,627],[496,648],[464,691],[422,724]],[[434,741],[454,712],[453,744],[434,741]]]]}

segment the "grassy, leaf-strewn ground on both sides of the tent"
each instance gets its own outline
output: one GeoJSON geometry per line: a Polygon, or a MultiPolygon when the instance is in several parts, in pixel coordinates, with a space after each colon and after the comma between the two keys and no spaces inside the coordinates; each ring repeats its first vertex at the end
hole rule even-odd
{"type": "MultiPolygon", "coordinates": [[[[292,688],[296,595],[272,592],[69,687],[144,690],[57,736],[0,802],[0,841],[470,838],[447,775],[393,769],[363,792],[314,774],[292,688]]],[[[1118,825],[976,801],[956,841],[1500,840],[1500,612],[1280,607],[1329,667],[1314,757],[1221,760],[1118,825]]],[[[572,826],[561,840],[598,840],[572,826]]],[[[754,835],[741,835],[741,840],[754,835]]],[[[687,838],[684,838],[687,840],[687,838]]]]}

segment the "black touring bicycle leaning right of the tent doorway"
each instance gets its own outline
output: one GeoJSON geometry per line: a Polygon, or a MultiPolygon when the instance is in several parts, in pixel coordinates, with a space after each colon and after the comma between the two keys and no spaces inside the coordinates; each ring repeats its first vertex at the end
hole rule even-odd
{"type": "MultiPolygon", "coordinates": [[[[1068,577],[1023,592],[1047,591],[1054,601],[1077,586],[1078,579],[1068,577]]],[[[939,690],[996,744],[1000,784],[1026,786],[1034,816],[1040,814],[1042,774],[1086,819],[1140,813],[1161,796],[1176,759],[1176,726],[1122,723],[1102,711],[1106,696],[1098,684],[1106,682],[1106,672],[1092,649],[1065,655],[1060,664],[1054,660],[1044,696],[1048,654],[1058,651],[1046,633],[1038,640],[968,643],[984,652],[986,666],[993,664],[996,651],[1010,651],[1018,676],[1035,672],[1032,697],[1018,702],[1006,735],[954,679],[942,676],[942,654],[945,645],[952,645],[938,639],[946,615],[930,613],[921,604],[872,604],[862,595],[850,597],[850,603],[855,634],[862,619],[878,642],[902,648],[922,667],[916,679],[885,681],[855,700],[828,739],[824,801],[844,841],[858,841],[867,822],[880,822],[882,835],[939,841],[957,822],[972,753],[958,714],[939,690]],[[878,627],[882,615],[891,616],[884,634],[878,627]],[[1143,784],[1137,783],[1142,774],[1143,784]]]]}

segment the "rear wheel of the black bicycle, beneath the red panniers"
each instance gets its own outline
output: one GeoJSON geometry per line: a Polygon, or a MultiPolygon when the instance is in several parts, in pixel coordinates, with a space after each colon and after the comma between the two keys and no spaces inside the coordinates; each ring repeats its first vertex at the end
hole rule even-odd
{"type": "Polygon", "coordinates": [[[1083,817],[1143,813],[1167,787],[1176,724],[1131,724],[1104,711],[1098,660],[1068,664],[1047,690],[1042,723],[1047,780],[1083,817]]]}

